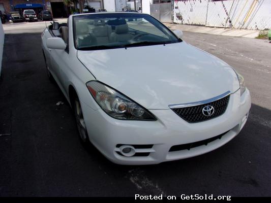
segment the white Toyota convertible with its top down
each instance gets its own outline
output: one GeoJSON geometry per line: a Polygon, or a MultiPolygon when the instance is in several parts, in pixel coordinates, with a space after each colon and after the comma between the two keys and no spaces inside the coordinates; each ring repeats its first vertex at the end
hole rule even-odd
{"type": "Polygon", "coordinates": [[[181,38],[125,12],[71,15],[43,31],[48,77],[83,143],[118,164],[155,164],[212,151],[240,132],[251,107],[244,78],[181,38]]]}

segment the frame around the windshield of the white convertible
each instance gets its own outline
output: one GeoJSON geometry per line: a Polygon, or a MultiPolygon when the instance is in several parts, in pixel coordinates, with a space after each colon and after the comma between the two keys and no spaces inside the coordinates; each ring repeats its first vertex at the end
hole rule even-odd
{"type": "MultiPolygon", "coordinates": [[[[180,38],[178,38],[176,35],[175,35],[175,33],[171,30],[171,29],[169,29],[166,25],[164,25],[162,22],[160,22],[159,20],[157,20],[156,18],[154,18],[153,16],[151,16],[151,15],[148,15],[148,14],[142,14],[142,13],[95,13],[95,14],[86,14],[86,15],[75,15],[75,16],[72,16],[72,30],[73,30],[73,44],[74,44],[74,48],[76,49],[76,50],[85,50],[86,51],[86,49],[80,49],[80,48],[78,48],[77,47],[77,45],[76,45],[76,33],[75,33],[75,20],[74,20],[74,18],[75,17],[77,17],[77,16],[91,16],[91,15],[95,15],[95,16],[97,16],[97,15],[108,15],[108,17],[110,17],[110,15],[112,15],[112,16],[114,16],[114,15],[116,15],[116,14],[119,14],[119,15],[123,15],[124,17],[125,16],[138,16],[139,18],[140,18],[140,16],[148,16],[148,17],[150,17],[150,18],[152,18],[154,21],[157,21],[163,28],[165,28],[168,32],[170,32],[175,38],[176,38],[176,40],[177,40],[177,42],[174,42],[174,43],[180,43],[180,42],[183,42],[183,40],[182,39],[180,39],[180,38]]],[[[155,26],[155,25],[154,25],[155,26]]],[[[156,26],[155,26],[156,27],[156,26]]],[[[157,42],[157,45],[159,45],[159,44],[172,44],[172,43],[159,43],[159,42],[157,42]]],[[[132,45],[132,44],[130,44],[130,45],[132,45]]],[[[100,46],[100,45],[98,45],[98,46],[100,46]]],[[[97,46],[97,47],[98,47],[97,46]]],[[[104,45],[101,45],[101,46],[104,46],[104,45]]],[[[139,46],[151,46],[150,44],[147,44],[147,45],[138,45],[138,46],[129,46],[129,47],[139,47],[139,46]]],[[[126,46],[116,46],[116,47],[110,47],[110,45],[108,45],[108,48],[101,48],[101,49],[89,49],[89,50],[105,50],[105,49],[121,49],[121,48],[126,48],[126,46]]]]}

